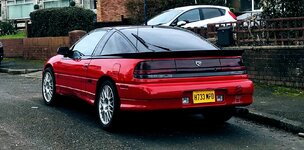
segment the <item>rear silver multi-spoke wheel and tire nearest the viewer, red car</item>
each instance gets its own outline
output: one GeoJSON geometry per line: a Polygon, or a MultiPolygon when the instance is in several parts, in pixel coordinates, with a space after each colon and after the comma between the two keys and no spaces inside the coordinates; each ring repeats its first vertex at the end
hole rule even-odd
{"type": "Polygon", "coordinates": [[[105,81],[97,93],[97,113],[101,127],[113,131],[118,122],[120,100],[116,86],[113,82],[105,81]]]}

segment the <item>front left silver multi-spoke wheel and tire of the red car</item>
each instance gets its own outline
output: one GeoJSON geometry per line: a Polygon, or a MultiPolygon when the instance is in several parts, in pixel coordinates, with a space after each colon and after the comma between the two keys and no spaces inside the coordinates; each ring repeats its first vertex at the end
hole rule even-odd
{"type": "Polygon", "coordinates": [[[46,105],[53,106],[56,103],[56,81],[52,68],[46,68],[42,77],[42,97],[46,105]]]}

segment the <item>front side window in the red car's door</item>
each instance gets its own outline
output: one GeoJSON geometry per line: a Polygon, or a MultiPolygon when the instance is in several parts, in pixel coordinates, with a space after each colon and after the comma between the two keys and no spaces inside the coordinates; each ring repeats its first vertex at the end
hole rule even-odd
{"type": "Polygon", "coordinates": [[[98,30],[87,34],[74,46],[73,51],[77,51],[84,56],[92,55],[96,45],[106,32],[105,30],[98,30]]]}

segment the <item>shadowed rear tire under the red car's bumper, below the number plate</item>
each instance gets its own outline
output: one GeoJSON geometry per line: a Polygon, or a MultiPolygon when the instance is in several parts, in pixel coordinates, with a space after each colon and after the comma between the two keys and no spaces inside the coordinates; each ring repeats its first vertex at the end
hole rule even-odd
{"type": "Polygon", "coordinates": [[[203,110],[203,117],[207,123],[222,124],[228,121],[234,114],[234,107],[227,108],[211,108],[203,110]]]}

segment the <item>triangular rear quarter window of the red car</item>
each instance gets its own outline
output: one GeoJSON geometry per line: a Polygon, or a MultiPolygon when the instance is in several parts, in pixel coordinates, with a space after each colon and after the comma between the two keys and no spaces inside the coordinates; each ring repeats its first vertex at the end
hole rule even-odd
{"type": "Polygon", "coordinates": [[[107,41],[101,55],[134,53],[135,48],[122,35],[115,32],[107,41]]]}

